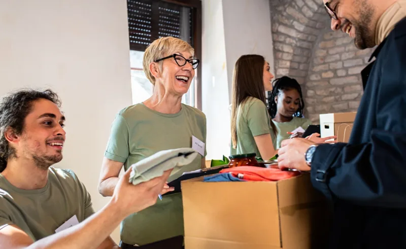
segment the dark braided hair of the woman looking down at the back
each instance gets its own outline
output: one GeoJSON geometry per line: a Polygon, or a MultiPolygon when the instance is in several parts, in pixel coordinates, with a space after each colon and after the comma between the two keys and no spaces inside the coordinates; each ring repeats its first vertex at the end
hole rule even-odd
{"type": "Polygon", "coordinates": [[[274,87],[272,89],[272,92],[268,94],[268,112],[270,117],[275,118],[276,113],[278,111],[277,103],[275,102],[275,97],[278,96],[280,91],[290,89],[296,89],[300,95],[299,109],[297,109],[297,112],[293,116],[299,118],[303,117],[304,101],[301,93],[300,84],[295,79],[289,78],[287,76],[276,79],[273,84],[274,87]]]}

